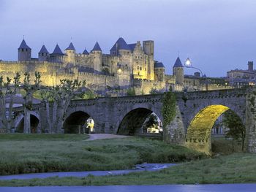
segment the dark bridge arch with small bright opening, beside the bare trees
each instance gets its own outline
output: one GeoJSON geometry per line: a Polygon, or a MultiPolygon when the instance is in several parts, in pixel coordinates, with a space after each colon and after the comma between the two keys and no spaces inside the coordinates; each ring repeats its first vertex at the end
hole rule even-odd
{"type": "Polygon", "coordinates": [[[78,134],[93,131],[95,119],[84,110],[72,110],[67,114],[64,120],[64,133],[65,134],[78,134]],[[90,119],[90,120],[89,120],[90,119]],[[86,126],[86,121],[89,120],[86,126]]]}

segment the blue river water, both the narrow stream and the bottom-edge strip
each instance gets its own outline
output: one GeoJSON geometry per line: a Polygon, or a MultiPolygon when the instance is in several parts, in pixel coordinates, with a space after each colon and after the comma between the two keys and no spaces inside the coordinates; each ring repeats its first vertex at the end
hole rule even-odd
{"type": "MultiPolygon", "coordinates": [[[[116,170],[116,171],[91,171],[91,172],[49,172],[49,173],[35,173],[35,174],[14,174],[7,176],[0,176],[0,180],[28,180],[33,178],[46,177],[86,177],[89,174],[95,176],[110,175],[110,174],[127,174],[129,172],[141,171],[157,171],[165,169],[176,164],[139,164],[135,169],[116,170]]],[[[45,187],[0,187],[1,192],[222,192],[222,191],[256,191],[256,184],[215,184],[215,185],[117,185],[117,186],[45,186],[45,187]]]]}

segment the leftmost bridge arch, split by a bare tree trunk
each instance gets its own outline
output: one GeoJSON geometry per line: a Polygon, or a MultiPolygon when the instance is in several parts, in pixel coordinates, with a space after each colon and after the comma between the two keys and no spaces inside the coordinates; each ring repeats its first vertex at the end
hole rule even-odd
{"type": "MultiPolygon", "coordinates": [[[[37,112],[30,112],[30,126],[31,133],[39,133],[41,131],[40,117],[37,112]]],[[[24,115],[20,113],[15,119],[14,123],[15,132],[23,133],[24,128],[24,115]]]]}

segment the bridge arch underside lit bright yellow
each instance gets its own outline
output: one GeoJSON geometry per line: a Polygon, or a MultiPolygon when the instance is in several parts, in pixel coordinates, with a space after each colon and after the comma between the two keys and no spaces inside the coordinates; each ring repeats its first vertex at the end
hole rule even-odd
{"type": "MultiPolygon", "coordinates": [[[[211,104],[199,110],[189,122],[185,145],[194,150],[211,154],[211,128],[215,121],[227,110],[232,110],[223,104],[211,104]]],[[[236,113],[236,111],[233,110],[236,113]]],[[[241,114],[237,114],[241,120],[241,114]]]]}

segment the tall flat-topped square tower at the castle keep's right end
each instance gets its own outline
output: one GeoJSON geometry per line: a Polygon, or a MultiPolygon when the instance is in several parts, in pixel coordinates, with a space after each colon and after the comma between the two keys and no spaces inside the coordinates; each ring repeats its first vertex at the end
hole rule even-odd
{"type": "Polygon", "coordinates": [[[148,80],[154,80],[154,41],[143,41],[143,51],[148,55],[148,80]]]}

